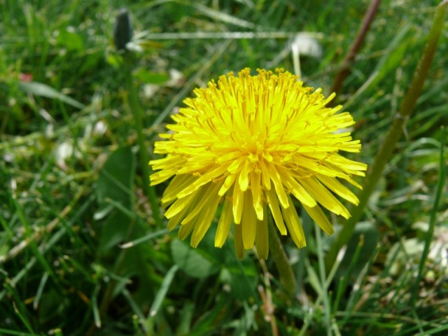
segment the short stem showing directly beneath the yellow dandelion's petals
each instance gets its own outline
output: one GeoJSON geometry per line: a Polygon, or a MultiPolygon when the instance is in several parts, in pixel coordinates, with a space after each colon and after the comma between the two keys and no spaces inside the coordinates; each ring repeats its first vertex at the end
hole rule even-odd
{"type": "Polygon", "coordinates": [[[274,227],[272,221],[268,221],[269,227],[269,251],[272,255],[272,259],[274,259],[277,270],[280,274],[280,281],[285,286],[286,291],[289,295],[294,295],[295,293],[295,276],[293,269],[288,261],[288,256],[286,255],[283,246],[281,245],[281,241],[279,238],[279,234],[277,233],[277,229],[274,227]]]}

